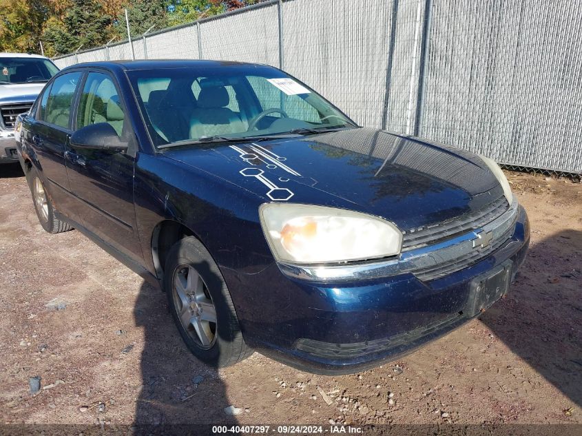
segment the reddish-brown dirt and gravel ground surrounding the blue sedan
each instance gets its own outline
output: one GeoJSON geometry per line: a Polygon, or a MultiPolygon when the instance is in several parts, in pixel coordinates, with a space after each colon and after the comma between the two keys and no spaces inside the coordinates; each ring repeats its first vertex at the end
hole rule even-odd
{"type": "Polygon", "coordinates": [[[508,178],[532,227],[508,297],[402,360],[329,377],[258,353],[200,364],[163,293],[78,231],[45,233],[19,168],[0,167],[1,423],[581,424],[582,185],[508,178]]]}

